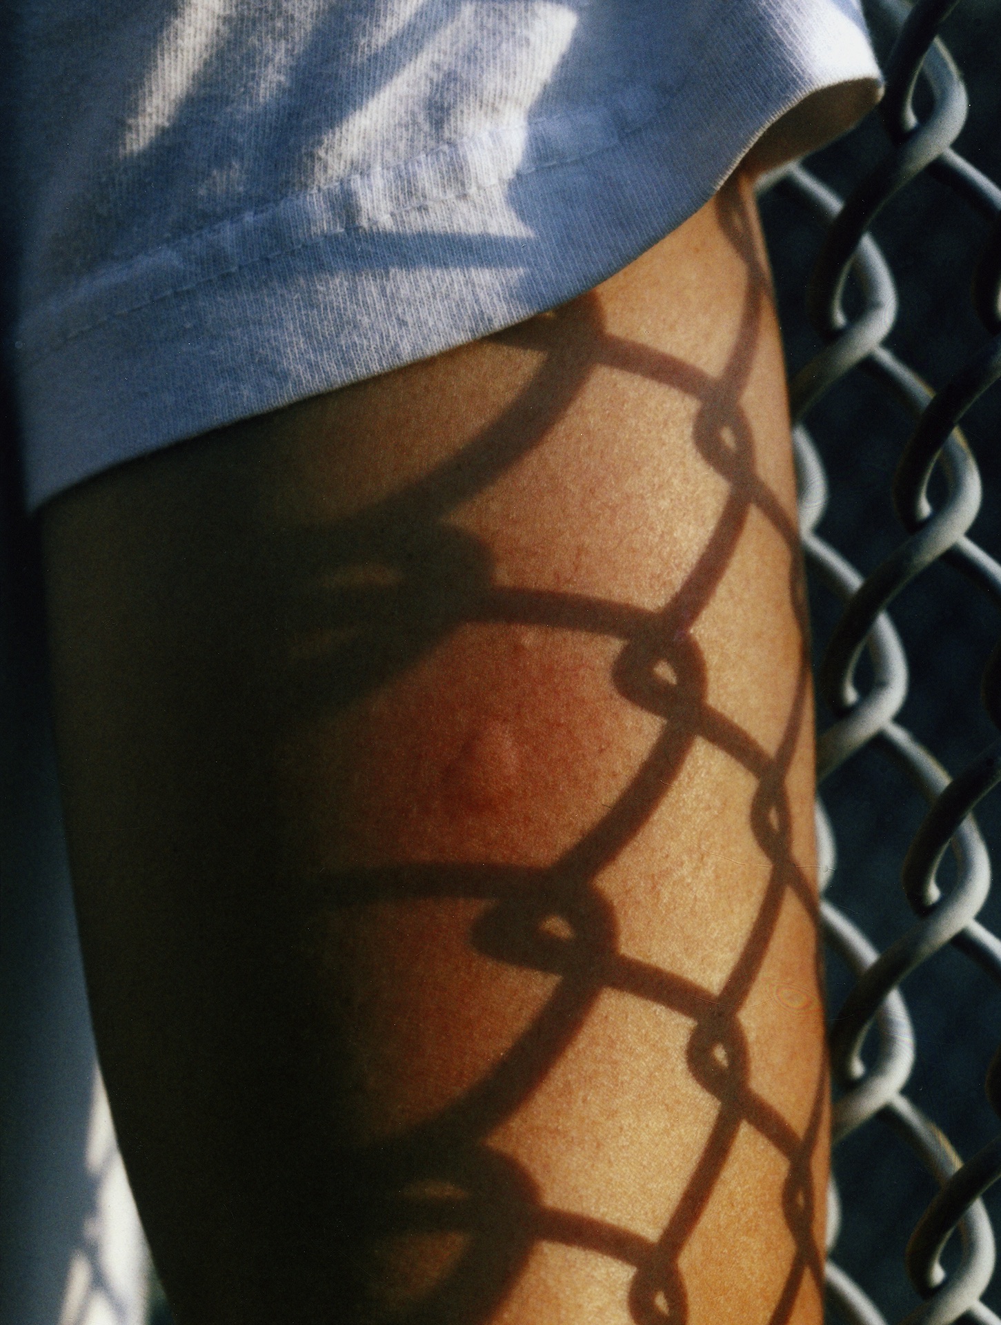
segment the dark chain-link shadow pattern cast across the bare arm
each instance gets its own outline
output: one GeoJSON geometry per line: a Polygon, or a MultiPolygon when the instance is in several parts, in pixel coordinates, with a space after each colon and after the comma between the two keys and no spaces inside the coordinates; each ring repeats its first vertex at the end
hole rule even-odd
{"type": "MultiPolygon", "coordinates": [[[[290,633],[312,632],[327,640],[322,649],[287,664],[281,686],[289,702],[286,722],[352,705],[413,666],[459,627],[519,624],[617,641],[612,668],[617,692],[661,723],[614,803],[546,867],[503,860],[400,864],[334,871],[302,882],[305,924],[323,912],[405,906],[426,898],[475,901],[469,945],[508,967],[555,980],[542,1010],[471,1088],[406,1130],[339,1157],[343,1183],[335,1219],[348,1230],[352,1244],[375,1247],[388,1239],[430,1236],[452,1248],[442,1252],[440,1272],[422,1283],[420,1292],[388,1309],[387,1318],[393,1321],[486,1322],[536,1243],[552,1242],[630,1267],[629,1312],[637,1325],[681,1325],[689,1318],[681,1257],[741,1128],[757,1132],[787,1165],[783,1216],[794,1253],[772,1304],[769,1325],[789,1320],[804,1277],[820,1292],[822,1261],[814,1240],[818,1194],[810,1165],[822,1143],[826,1076],[821,1073],[816,1083],[806,1128],[794,1130],[752,1089],[740,1022],[787,896],[793,894],[816,917],[813,886],[792,853],[785,788],[793,750],[809,721],[809,660],[804,648],[783,738],[768,751],[708,702],[707,664],[694,633],[749,514],[756,511],[788,545],[793,567],[789,595],[802,639],[808,637],[797,530],[756,472],[752,429],[740,403],[769,298],[768,274],[745,216],[728,192],[716,205],[731,244],[752,273],[739,334],[719,375],[609,334],[593,298],[587,305],[587,335],[553,338],[552,325],[568,321],[556,310],[498,337],[542,354],[535,379],[499,420],[461,453],[380,504],[335,525],[285,535],[287,545],[271,558],[278,567],[299,568],[289,603],[290,633]],[[560,348],[553,350],[553,344],[560,348]],[[463,501],[538,444],[600,366],[665,384],[695,400],[699,454],[728,485],[694,567],[658,610],[498,583],[486,546],[449,519],[463,501]],[[649,822],[698,741],[711,743],[753,778],[751,827],[769,865],[757,914],[718,991],[622,951],[614,908],[601,890],[602,872],[649,822]],[[551,1208],[527,1169],[490,1145],[491,1133],[532,1097],[606,990],[690,1020],[689,1071],[718,1101],[698,1163],[655,1240],[579,1211],[551,1208]]],[[[579,317],[580,301],[576,309],[579,317]]],[[[663,1145],[670,1143],[665,1136],[663,1145]]],[[[347,1281],[344,1292],[365,1295],[363,1287],[348,1288],[347,1281]]],[[[344,1306],[358,1309],[355,1301],[346,1300],[344,1306]]]]}

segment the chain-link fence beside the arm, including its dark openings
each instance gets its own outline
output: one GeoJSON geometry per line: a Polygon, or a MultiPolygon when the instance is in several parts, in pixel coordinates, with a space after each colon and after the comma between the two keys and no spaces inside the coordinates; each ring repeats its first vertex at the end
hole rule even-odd
{"type": "Polygon", "coordinates": [[[1001,645],[990,640],[1001,564],[982,546],[997,461],[985,488],[957,427],[968,419],[982,444],[1000,421],[985,392],[1001,376],[1001,188],[971,159],[990,155],[998,130],[1001,69],[990,57],[1001,53],[1001,13],[992,8],[967,5],[947,30],[956,0],[912,9],[878,0],[879,111],[816,166],[769,182],[763,203],[793,366],[809,346],[794,309],[804,282],[820,346],[792,374],[790,395],[822,643],[817,685],[830,719],[821,722],[817,804],[837,1010],[828,1293],[833,1314],[853,1325],[1000,1320],[982,1196],[1001,1177],[1001,1053],[992,1057],[1001,941],[977,918],[990,918],[997,825],[989,802],[984,831],[971,814],[1001,780],[1001,645]],[[952,146],[968,122],[964,80],[943,41],[953,29],[975,69],[973,105],[977,93],[986,103],[969,156],[952,146]],[[972,281],[961,314],[960,281],[972,281]],[[975,655],[985,714],[964,704],[976,694],[975,655]],[[902,896],[890,898],[898,878],[902,896]],[[972,1151],[965,1163],[957,1147],[972,1151]]]}

